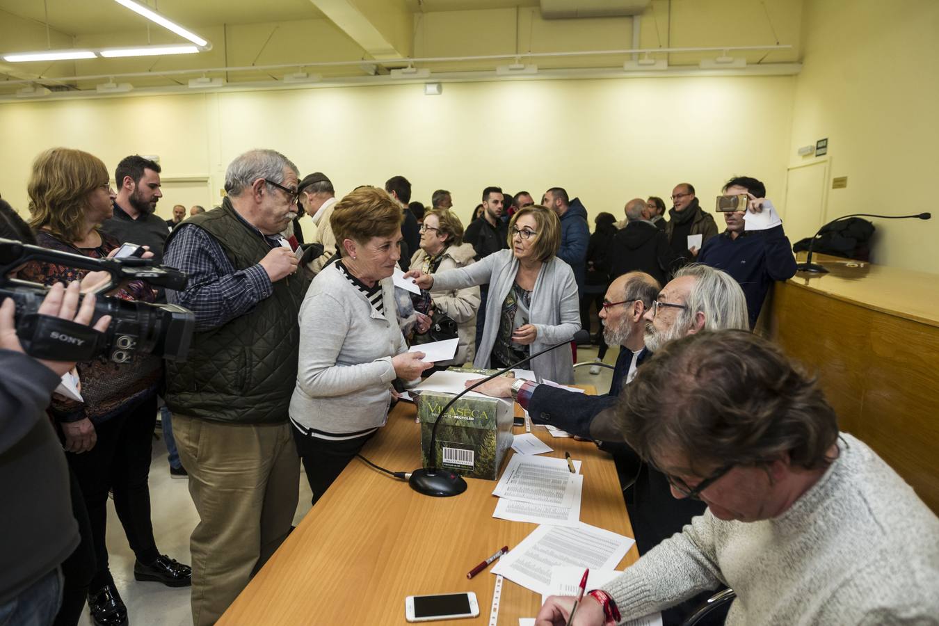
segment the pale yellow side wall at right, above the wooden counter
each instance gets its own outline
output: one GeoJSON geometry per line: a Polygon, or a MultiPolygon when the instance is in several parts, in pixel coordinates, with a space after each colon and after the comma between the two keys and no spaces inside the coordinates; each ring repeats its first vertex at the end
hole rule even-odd
{"type": "MultiPolygon", "coordinates": [[[[939,272],[939,2],[812,0],[805,66],[795,82],[789,165],[828,138],[827,220],[850,213],[933,211],[932,221],[874,220],[876,263],[939,272]],[[850,5],[847,7],[846,4],[850,5]],[[831,178],[848,176],[845,189],[831,178]]],[[[790,209],[792,210],[792,209],[790,209]]]]}

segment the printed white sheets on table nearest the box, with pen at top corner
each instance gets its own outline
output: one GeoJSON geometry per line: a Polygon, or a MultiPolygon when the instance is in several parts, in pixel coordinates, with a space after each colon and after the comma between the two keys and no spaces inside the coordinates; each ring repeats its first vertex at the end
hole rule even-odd
{"type": "MultiPolygon", "coordinates": [[[[580,471],[580,462],[574,462],[580,471]]],[[[580,500],[583,476],[572,474],[564,459],[513,454],[505,466],[493,496],[534,504],[569,507],[580,500]]]]}

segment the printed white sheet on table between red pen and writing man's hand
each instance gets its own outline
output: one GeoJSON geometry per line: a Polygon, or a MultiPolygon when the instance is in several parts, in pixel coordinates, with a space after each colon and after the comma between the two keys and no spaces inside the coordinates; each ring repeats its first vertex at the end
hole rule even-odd
{"type": "Polygon", "coordinates": [[[584,568],[613,570],[633,543],[628,537],[583,522],[577,527],[544,525],[502,556],[490,572],[546,594],[551,588],[552,568],[571,565],[580,568],[581,575],[584,568]]]}

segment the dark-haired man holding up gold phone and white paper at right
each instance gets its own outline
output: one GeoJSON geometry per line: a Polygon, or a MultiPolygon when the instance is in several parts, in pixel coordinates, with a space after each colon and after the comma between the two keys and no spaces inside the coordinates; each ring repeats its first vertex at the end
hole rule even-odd
{"type": "Polygon", "coordinates": [[[740,283],[754,328],[770,285],[795,276],[793,245],[773,203],[766,199],[762,182],[737,176],[727,181],[723,191],[725,196],[746,195],[747,210],[724,213],[727,230],[704,244],[698,261],[723,269],[740,283]]]}

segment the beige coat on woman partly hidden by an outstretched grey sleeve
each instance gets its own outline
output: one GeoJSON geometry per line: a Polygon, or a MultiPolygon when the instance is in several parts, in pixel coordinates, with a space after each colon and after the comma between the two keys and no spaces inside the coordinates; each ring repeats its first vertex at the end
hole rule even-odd
{"type": "MultiPolygon", "coordinates": [[[[454,267],[467,267],[473,262],[476,251],[469,243],[459,246],[450,246],[443,251],[443,259],[437,271],[453,269],[454,267]]],[[[411,257],[412,268],[421,268],[427,252],[418,249],[411,257]]],[[[434,301],[434,308],[447,313],[456,322],[456,331],[459,335],[459,344],[456,354],[451,362],[438,363],[439,365],[463,365],[471,363],[476,356],[476,312],[479,310],[479,287],[471,286],[463,289],[440,289],[430,292],[434,301]]]]}

